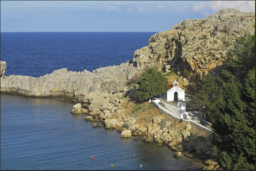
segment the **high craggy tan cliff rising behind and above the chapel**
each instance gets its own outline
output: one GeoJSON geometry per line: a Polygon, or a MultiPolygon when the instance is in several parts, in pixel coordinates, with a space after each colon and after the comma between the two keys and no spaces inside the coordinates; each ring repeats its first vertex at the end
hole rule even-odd
{"type": "Polygon", "coordinates": [[[153,35],[149,45],[134,53],[138,70],[155,67],[174,71],[189,81],[197,81],[207,73],[216,74],[232,50],[235,38],[255,34],[255,13],[235,8],[222,9],[204,19],[186,19],[169,31],[153,35]]]}

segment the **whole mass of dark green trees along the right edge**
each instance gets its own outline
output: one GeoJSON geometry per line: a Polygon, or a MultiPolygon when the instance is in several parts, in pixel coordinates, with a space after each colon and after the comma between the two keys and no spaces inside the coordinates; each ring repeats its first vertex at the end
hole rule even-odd
{"type": "Polygon", "coordinates": [[[214,129],[213,155],[223,169],[255,170],[255,35],[236,39],[219,76],[204,76],[191,96],[214,129]]]}

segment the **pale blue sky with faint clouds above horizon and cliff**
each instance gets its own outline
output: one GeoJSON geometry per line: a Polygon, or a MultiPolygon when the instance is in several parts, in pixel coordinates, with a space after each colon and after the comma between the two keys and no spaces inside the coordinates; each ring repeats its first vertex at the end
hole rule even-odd
{"type": "Polygon", "coordinates": [[[1,32],[160,32],[255,0],[1,0],[1,32]]]}

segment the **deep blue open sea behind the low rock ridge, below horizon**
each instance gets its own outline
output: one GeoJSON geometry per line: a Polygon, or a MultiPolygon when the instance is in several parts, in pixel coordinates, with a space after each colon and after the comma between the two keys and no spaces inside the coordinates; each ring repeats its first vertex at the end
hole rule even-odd
{"type": "Polygon", "coordinates": [[[39,77],[67,67],[93,71],[133,59],[155,32],[1,32],[6,76],[39,77]]]}

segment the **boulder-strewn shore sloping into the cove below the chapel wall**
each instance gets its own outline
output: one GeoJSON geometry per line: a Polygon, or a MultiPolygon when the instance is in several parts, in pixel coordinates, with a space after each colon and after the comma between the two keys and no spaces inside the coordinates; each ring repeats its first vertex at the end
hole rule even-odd
{"type": "Polygon", "coordinates": [[[135,118],[123,113],[125,109],[122,103],[118,102],[118,108],[109,109],[105,106],[93,112],[88,112],[87,104],[77,103],[71,113],[86,113],[88,115],[85,120],[98,123],[94,127],[105,126],[105,129],[120,132],[121,137],[143,140],[146,143],[154,142],[156,146],[168,146],[175,151],[174,157],[192,157],[195,162],[202,163],[201,170],[222,170],[212,156],[211,136],[193,135],[189,122],[166,120],[163,116],[156,116],[148,123],[135,123],[135,118]]]}

